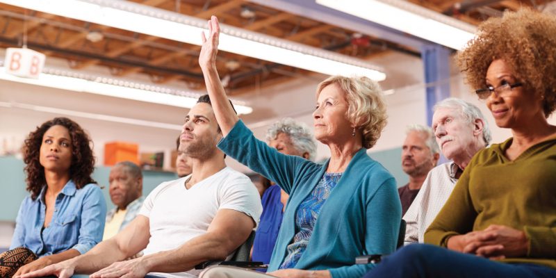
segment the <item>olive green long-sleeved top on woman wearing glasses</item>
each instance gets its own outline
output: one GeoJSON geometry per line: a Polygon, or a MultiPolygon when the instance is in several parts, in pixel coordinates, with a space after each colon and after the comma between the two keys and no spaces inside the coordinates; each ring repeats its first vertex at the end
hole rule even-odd
{"type": "Polygon", "coordinates": [[[511,144],[509,138],[475,154],[425,232],[425,243],[446,247],[450,236],[505,225],[525,231],[530,249],[503,262],[556,268],[556,137],[514,161],[504,154],[511,144]]]}

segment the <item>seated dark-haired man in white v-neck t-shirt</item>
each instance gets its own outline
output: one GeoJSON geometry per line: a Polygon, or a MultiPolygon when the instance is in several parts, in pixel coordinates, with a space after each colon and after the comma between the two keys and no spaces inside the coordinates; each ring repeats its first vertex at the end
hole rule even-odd
{"type": "Polygon", "coordinates": [[[161,183],[145,199],[138,216],[123,231],[74,259],[22,275],[74,273],[90,277],[195,277],[195,265],[222,260],[241,245],[259,222],[259,193],[250,179],[227,167],[216,147],[222,132],[208,95],[186,116],[180,150],[191,158],[193,173],[161,183]],[[122,261],[144,250],[144,256],[122,261]]]}

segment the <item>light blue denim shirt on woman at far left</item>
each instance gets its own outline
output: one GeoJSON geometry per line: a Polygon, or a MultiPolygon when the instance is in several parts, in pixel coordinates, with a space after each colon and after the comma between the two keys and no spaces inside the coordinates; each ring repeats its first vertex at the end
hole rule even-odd
{"type": "Polygon", "coordinates": [[[84,254],[102,240],[106,202],[99,186],[87,184],[76,189],[68,181],[56,197],[54,215],[44,226],[47,206],[44,194],[47,186],[33,201],[25,197],[15,220],[15,231],[10,249],[24,246],[37,256],[48,256],[73,248],[84,254]]]}

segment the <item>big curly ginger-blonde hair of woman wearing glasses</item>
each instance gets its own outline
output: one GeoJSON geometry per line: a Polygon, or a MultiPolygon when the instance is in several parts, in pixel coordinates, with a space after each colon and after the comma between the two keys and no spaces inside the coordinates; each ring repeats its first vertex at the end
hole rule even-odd
{"type": "Polygon", "coordinates": [[[502,59],[527,90],[542,92],[548,117],[556,108],[556,17],[530,8],[480,24],[477,37],[457,56],[473,88],[485,87],[486,70],[502,59]]]}

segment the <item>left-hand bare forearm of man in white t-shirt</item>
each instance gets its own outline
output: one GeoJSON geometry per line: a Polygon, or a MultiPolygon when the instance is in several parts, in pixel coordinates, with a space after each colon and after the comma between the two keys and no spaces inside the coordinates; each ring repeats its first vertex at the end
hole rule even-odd
{"type": "Polygon", "coordinates": [[[116,240],[111,239],[102,241],[89,252],[72,260],[76,274],[90,274],[123,259],[126,259],[126,254],[120,250],[116,240]]]}

